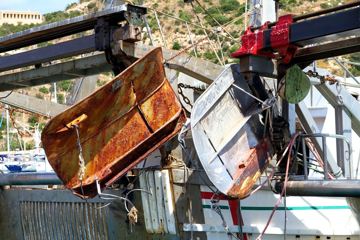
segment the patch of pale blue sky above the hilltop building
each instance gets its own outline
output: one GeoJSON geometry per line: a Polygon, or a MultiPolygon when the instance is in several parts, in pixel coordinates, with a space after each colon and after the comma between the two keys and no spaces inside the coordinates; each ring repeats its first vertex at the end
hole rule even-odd
{"type": "Polygon", "coordinates": [[[41,15],[56,11],[64,11],[71,3],[79,0],[0,0],[0,10],[40,12],[41,15]]]}

